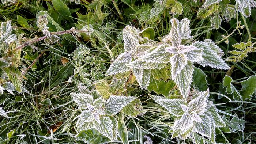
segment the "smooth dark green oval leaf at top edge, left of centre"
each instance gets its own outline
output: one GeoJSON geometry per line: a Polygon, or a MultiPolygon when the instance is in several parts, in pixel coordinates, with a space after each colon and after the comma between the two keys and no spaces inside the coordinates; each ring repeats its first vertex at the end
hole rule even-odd
{"type": "Polygon", "coordinates": [[[52,0],[52,5],[59,15],[63,16],[65,19],[72,18],[68,6],[64,4],[62,0],[52,0]]]}

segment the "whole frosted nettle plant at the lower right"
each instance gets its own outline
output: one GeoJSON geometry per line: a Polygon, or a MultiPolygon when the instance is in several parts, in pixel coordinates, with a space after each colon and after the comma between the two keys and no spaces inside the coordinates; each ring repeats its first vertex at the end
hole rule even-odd
{"type": "Polygon", "coordinates": [[[170,130],[172,138],[186,139],[192,137],[192,133],[196,132],[215,143],[215,128],[225,126],[217,108],[207,99],[209,89],[203,92],[192,92],[190,102],[184,99],[151,96],[176,117],[174,126],[170,130]]]}

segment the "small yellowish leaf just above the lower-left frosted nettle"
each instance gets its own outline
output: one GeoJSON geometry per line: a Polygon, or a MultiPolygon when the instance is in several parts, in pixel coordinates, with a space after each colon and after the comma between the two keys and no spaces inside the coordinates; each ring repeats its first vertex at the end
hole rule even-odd
{"type": "Polygon", "coordinates": [[[111,95],[111,92],[109,92],[109,84],[105,79],[99,80],[95,84],[95,88],[99,92],[99,94],[103,96],[103,98],[107,99],[111,95]]]}

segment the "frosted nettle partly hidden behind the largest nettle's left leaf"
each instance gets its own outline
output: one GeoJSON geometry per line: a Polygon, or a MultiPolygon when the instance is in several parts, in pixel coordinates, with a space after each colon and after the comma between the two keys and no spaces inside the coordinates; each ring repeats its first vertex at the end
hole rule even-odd
{"type": "Polygon", "coordinates": [[[146,53],[150,52],[157,45],[154,41],[148,38],[142,38],[139,36],[139,30],[135,27],[126,26],[123,29],[124,50],[116,60],[110,65],[106,75],[114,75],[117,73],[123,73],[132,71],[137,81],[140,83],[140,87],[147,88],[151,76],[151,71],[147,68],[132,68],[131,62],[142,58],[146,53]]]}

